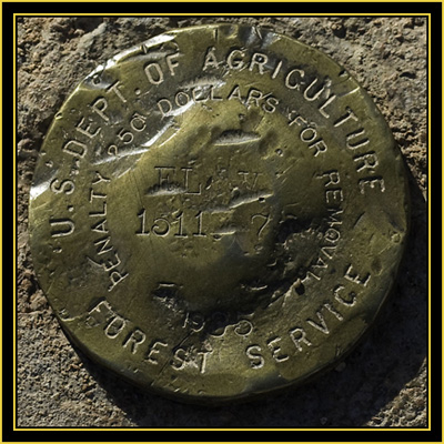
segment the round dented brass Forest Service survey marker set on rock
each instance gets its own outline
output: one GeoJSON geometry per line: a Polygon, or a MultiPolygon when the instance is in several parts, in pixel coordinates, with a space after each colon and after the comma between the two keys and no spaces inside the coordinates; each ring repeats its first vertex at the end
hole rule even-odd
{"type": "Polygon", "coordinates": [[[301,383],[366,331],[407,230],[401,153],[330,58],[174,30],[94,70],[41,150],[39,282],[70,337],[193,402],[301,383]]]}

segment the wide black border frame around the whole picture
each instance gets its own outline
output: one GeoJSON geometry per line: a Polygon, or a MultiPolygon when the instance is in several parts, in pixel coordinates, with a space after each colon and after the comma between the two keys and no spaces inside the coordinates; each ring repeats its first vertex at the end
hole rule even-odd
{"type": "MultiPolygon", "coordinates": [[[[313,13],[312,17],[316,17],[317,14],[313,13]]],[[[180,18],[176,17],[178,19],[180,18]]],[[[438,282],[441,275],[441,261],[437,261],[436,258],[442,258],[441,251],[441,234],[442,234],[442,221],[441,221],[441,205],[442,199],[440,199],[441,186],[438,186],[440,182],[442,183],[441,176],[441,150],[438,147],[441,145],[442,134],[442,3],[441,2],[319,2],[313,6],[313,3],[300,3],[300,2],[287,2],[287,3],[240,3],[240,2],[223,2],[223,3],[200,3],[200,2],[168,2],[168,3],[151,3],[151,2],[141,2],[141,3],[72,3],[72,2],[60,2],[60,3],[21,3],[21,2],[3,2],[2,3],[2,56],[3,56],[3,77],[2,77],[2,100],[3,100],[3,150],[2,150],[2,202],[7,211],[2,213],[6,214],[3,220],[3,248],[6,249],[7,254],[3,255],[3,297],[2,297],[2,313],[3,313],[3,324],[2,324],[2,441],[4,442],[63,442],[63,441],[85,441],[91,440],[93,442],[119,442],[119,441],[132,441],[132,442],[152,442],[152,441],[178,441],[178,442],[214,442],[214,441],[245,441],[245,442],[300,442],[300,441],[321,441],[321,442],[360,442],[360,441],[377,441],[377,442],[442,442],[442,379],[441,379],[441,370],[442,370],[442,301],[441,297],[436,293],[442,294],[442,281],[438,282]],[[432,202],[428,202],[428,208],[431,211],[431,220],[428,221],[428,230],[430,230],[430,258],[433,258],[432,265],[433,270],[428,270],[428,279],[430,284],[432,285],[432,279],[434,279],[432,289],[433,291],[433,310],[432,310],[432,326],[433,331],[431,334],[431,343],[430,347],[433,351],[433,410],[430,412],[430,421],[432,424],[432,428],[424,431],[408,431],[408,430],[375,430],[375,431],[361,431],[360,428],[353,431],[330,431],[329,428],[319,430],[319,431],[280,431],[276,428],[274,431],[249,431],[248,434],[244,432],[242,435],[238,431],[225,431],[222,435],[214,435],[213,431],[200,431],[200,430],[191,430],[192,432],[182,432],[176,430],[170,430],[165,432],[158,431],[139,431],[137,428],[129,430],[115,430],[115,431],[101,431],[90,432],[85,434],[80,428],[72,428],[72,431],[46,431],[41,428],[40,431],[28,431],[23,430],[13,430],[12,421],[12,398],[13,398],[13,389],[14,386],[11,384],[13,370],[12,370],[12,334],[11,334],[11,325],[8,322],[8,315],[12,312],[12,299],[8,295],[10,294],[6,287],[8,282],[10,282],[10,276],[13,274],[12,268],[16,264],[11,265],[8,263],[9,258],[9,248],[11,248],[11,240],[9,236],[9,223],[14,223],[12,218],[10,216],[10,211],[12,208],[12,196],[11,196],[11,186],[10,186],[10,174],[9,168],[12,163],[12,159],[9,158],[10,152],[12,150],[8,149],[13,141],[13,121],[12,114],[9,112],[11,103],[14,105],[17,103],[16,97],[13,97],[14,88],[11,88],[11,82],[13,81],[11,75],[11,61],[14,57],[13,54],[13,46],[12,46],[12,27],[13,27],[13,14],[19,16],[32,16],[34,13],[39,14],[48,14],[50,17],[57,17],[57,13],[53,13],[54,10],[59,9],[60,13],[84,13],[85,9],[88,12],[94,13],[100,12],[102,16],[107,16],[107,13],[122,13],[122,14],[131,14],[132,13],[147,13],[150,16],[155,16],[153,13],[154,7],[158,11],[161,9],[174,11],[174,13],[190,13],[195,12],[199,16],[205,16],[202,11],[206,10],[210,14],[210,11],[216,10],[218,16],[230,16],[236,17],[236,13],[229,13],[228,11],[236,10],[238,14],[248,14],[248,11],[252,10],[252,4],[254,4],[254,16],[256,14],[266,14],[270,10],[273,10],[274,14],[289,16],[296,14],[299,12],[307,12],[309,10],[317,10],[323,11],[324,13],[331,16],[341,16],[342,13],[360,13],[363,11],[367,12],[369,16],[377,14],[400,14],[400,16],[408,16],[410,13],[421,13],[421,14],[431,14],[431,42],[430,47],[430,72],[431,75],[431,88],[433,90],[433,95],[430,95],[430,110],[433,110],[433,113],[428,115],[428,124],[430,128],[434,130],[432,134],[432,145],[436,147],[433,149],[433,164],[432,169],[432,182],[434,184],[433,192],[430,192],[430,198],[435,198],[432,202]],[[403,12],[403,11],[405,12],[403,12]],[[103,12],[107,11],[107,12],[103,12]],[[131,11],[131,12],[130,12],[131,11]],[[352,11],[352,12],[351,12],[352,11]],[[12,130],[11,130],[12,129],[12,130]],[[437,159],[438,158],[438,159],[437,159]],[[8,185],[9,183],[9,185],[8,185]],[[11,206],[10,206],[11,205],[11,206]],[[432,241],[433,235],[433,241],[432,241]],[[435,253],[441,253],[436,255],[435,253]],[[440,334],[441,332],[441,334],[440,334]],[[130,434],[125,432],[131,431],[130,434]]],[[[430,154],[428,154],[430,159],[430,154]]],[[[14,165],[16,168],[16,165],[14,165]]],[[[431,185],[431,183],[428,183],[431,185]]],[[[11,228],[12,229],[12,228],[11,228]]],[[[16,240],[14,240],[16,244],[16,240]]],[[[432,387],[431,387],[432,389],[432,387]]],[[[215,428],[214,431],[221,431],[221,428],[215,428]]]]}

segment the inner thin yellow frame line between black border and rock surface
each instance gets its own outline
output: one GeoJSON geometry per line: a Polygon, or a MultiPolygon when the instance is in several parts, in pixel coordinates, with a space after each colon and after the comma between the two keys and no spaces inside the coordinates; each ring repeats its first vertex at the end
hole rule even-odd
{"type": "MultiPolygon", "coordinates": [[[[169,0],[167,0],[165,2],[168,2],[169,0]]],[[[261,0],[260,0],[261,1],[261,0]]],[[[329,1],[329,0],[327,0],[329,1]]],[[[410,0],[407,0],[408,2],[410,0]]],[[[3,2],[8,2],[8,1],[3,1],[3,2]]],[[[26,1],[27,2],[27,1],[26,1]]],[[[31,2],[28,1],[28,2],[31,2]]],[[[83,2],[83,0],[80,0],[79,2],[83,2]]],[[[84,1],[87,2],[87,1],[84,1]]],[[[382,1],[374,1],[374,2],[382,2],[382,1]]],[[[436,3],[442,3],[441,0],[432,0],[432,2],[436,2],[436,3]]],[[[444,11],[442,12],[442,14],[444,16],[444,11]]],[[[57,13],[57,14],[51,14],[51,13],[13,13],[13,94],[16,95],[16,19],[17,17],[54,17],[54,16],[120,16],[120,17],[159,17],[159,16],[210,16],[210,17],[220,17],[220,13],[131,13],[131,14],[125,14],[125,13],[107,13],[107,14],[100,14],[100,13],[57,13]]],[[[231,16],[233,17],[233,14],[226,14],[226,16],[231,16]]],[[[264,13],[239,13],[239,14],[234,14],[234,16],[256,16],[256,17],[263,17],[264,13]]],[[[426,17],[427,18],[427,30],[428,30],[428,165],[427,165],[427,173],[428,173],[428,183],[431,182],[431,122],[430,122],[430,115],[431,115],[431,46],[432,46],[432,39],[431,39],[431,13],[371,13],[371,14],[366,14],[366,13],[340,13],[340,14],[332,14],[332,13],[268,13],[266,16],[278,16],[278,17],[282,17],[282,16],[287,16],[287,17],[301,17],[301,16],[319,16],[319,17],[343,17],[343,16],[372,16],[372,17],[389,17],[389,16],[395,16],[395,17],[426,17]]],[[[2,18],[2,12],[0,12],[0,18],[2,18]]],[[[442,37],[442,39],[444,40],[444,38],[442,37]]],[[[0,48],[0,57],[2,56],[2,51],[0,48]]],[[[0,80],[2,79],[2,71],[0,71],[0,80]]],[[[2,92],[0,92],[0,98],[2,95],[2,92]]],[[[443,93],[444,97],[444,93],[443,93]]],[[[1,111],[0,111],[1,113],[1,111]]],[[[13,110],[13,183],[16,184],[16,179],[17,179],[17,174],[16,174],[16,160],[17,160],[17,153],[16,153],[16,122],[17,122],[17,110],[14,107],[13,110]]],[[[0,129],[2,130],[2,127],[0,127],[0,129]]],[[[2,160],[0,159],[0,167],[2,167],[2,160]]],[[[444,161],[442,161],[442,167],[444,167],[444,161]]],[[[444,189],[444,185],[442,185],[442,189],[444,189]]],[[[0,191],[1,191],[1,184],[0,184],[0,191]]],[[[428,199],[428,222],[431,221],[431,190],[430,186],[427,189],[427,199],[428,199]]],[[[0,205],[2,204],[2,198],[0,194],[0,205]]],[[[444,213],[444,210],[443,210],[444,213]]],[[[0,228],[2,228],[2,221],[0,219],[0,228]]],[[[13,258],[14,258],[14,264],[16,264],[16,235],[17,235],[17,231],[16,231],[16,189],[13,190],[13,258]]],[[[444,242],[444,241],[443,241],[444,242]]],[[[0,240],[0,246],[2,245],[2,241],[0,240]]],[[[431,233],[428,231],[428,270],[431,266],[431,233]]],[[[0,264],[2,263],[2,256],[0,256],[0,264]]],[[[444,266],[443,266],[443,271],[444,271],[444,266]]],[[[444,274],[444,273],[443,273],[444,274]]],[[[2,274],[0,274],[0,281],[2,279],[2,274]]],[[[13,268],[13,285],[14,285],[14,290],[13,290],[13,386],[16,389],[16,367],[17,367],[17,360],[16,360],[16,331],[17,331],[17,322],[16,322],[16,315],[17,315],[17,292],[16,292],[16,266],[13,268]]],[[[428,274],[428,344],[431,342],[431,285],[430,285],[430,274],[428,274]]],[[[2,307],[0,306],[0,314],[2,313],[2,307]]],[[[0,332],[0,340],[1,340],[1,332],[0,332]]],[[[274,431],[274,432],[280,432],[280,431],[427,431],[431,430],[431,418],[430,418],[430,412],[431,412],[431,351],[428,347],[428,365],[427,365],[427,375],[428,375],[428,403],[427,403],[427,407],[428,407],[428,427],[427,428],[363,428],[363,427],[359,427],[359,428],[224,428],[226,431],[274,431]]],[[[1,376],[1,369],[0,369],[0,376],[1,376]]],[[[0,389],[0,393],[1,393],[1,389],[0,389]]],[[[13,391],[13,431],[41,431],[42,428],[17,428],[16,427],[16,404],[17,404],[17,400],[16,400],[16,390],[13,391]]],[[[72,431],[73,428],[47,428],[44,427],[46,431],[72,431]]],[[[74,428],[74,430],[79,430],[79,428],[74,428]]],[[[213,431],[213,428],[81,428],[81,431],[213,431]]]]}

